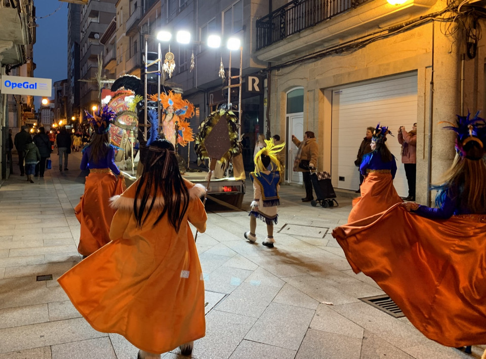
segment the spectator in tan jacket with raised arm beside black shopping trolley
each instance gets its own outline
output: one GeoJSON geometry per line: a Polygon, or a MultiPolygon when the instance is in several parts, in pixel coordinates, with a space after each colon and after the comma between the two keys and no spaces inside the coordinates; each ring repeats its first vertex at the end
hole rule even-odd
{"type": "Polygon", "coordinates": [[[302,198],[302,202],[310,202],[314,199],[310,182],[310,168],[315,167],[318,153],[314,132],[306,131],[302,142],[292,135],[292,142],[299,148],[294,160],[294,172],[302,172],[305,187],[305,198],[302,198]]]}

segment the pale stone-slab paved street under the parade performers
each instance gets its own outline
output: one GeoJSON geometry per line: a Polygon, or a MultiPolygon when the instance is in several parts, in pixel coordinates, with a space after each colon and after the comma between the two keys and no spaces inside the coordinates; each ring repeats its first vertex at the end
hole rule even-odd
{"type": "MultiPolygon", "coordinates": [[[[15,158],[15,157],[14,157],[15,158]]],[[[123,337],[99,333],[79,315],[56,279],[80,261],[73,207],[84,190],[80,153],[69,171],[53,169],[35,184],[16,174],[0,188],[0,359],[134,359],[123,337]],[[36,276],[52,280],[36,281],[36,276]]],[[[302,203],[304,190],[282,186],[275,248],[258,244],[246,211],[208,213],[197,238],[205,273],[207,332],[192,357],[203,359],[470,358],[419,333],[358,298],[383,294],[355,275],[330,232],[346,222],[351,198],[339,207],[302,203]]],[[[244,208],[253,193],[248,183],[244,208]]],[[[486,342],[486,339],[485,339],[486,342]]],[[[163,355],[182,359],[179,349],[163,355]]],[[[473,348],[479,357],[480,347],[473,348]]]]}

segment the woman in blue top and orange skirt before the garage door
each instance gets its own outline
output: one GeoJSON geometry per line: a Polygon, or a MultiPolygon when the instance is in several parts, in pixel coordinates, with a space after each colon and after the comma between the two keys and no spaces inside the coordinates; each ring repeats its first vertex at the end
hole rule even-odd
{"type": "Polygon", "coordinates": [[[391,133],[388,127],[380,127],[380,124],[373,132],[372,152],[363,156],[359,166],[360,173],[365,176],[365,181],[360,187],[361,197],[353,200],[348,222],[383,212],[395,203],[403,202],[393,186],[396,161],[385,144],[388,133],[391,133]]]}

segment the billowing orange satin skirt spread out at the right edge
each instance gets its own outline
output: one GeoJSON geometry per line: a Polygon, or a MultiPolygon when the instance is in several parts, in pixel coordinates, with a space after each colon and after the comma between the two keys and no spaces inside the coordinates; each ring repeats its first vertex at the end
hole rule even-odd
{"type": "Polygon", "coordinates": [[[335,228],[360,271],[427,338],[459,347],[486,342],[486,223],[474,216],[432,220],[395,205],[335,228]]]}

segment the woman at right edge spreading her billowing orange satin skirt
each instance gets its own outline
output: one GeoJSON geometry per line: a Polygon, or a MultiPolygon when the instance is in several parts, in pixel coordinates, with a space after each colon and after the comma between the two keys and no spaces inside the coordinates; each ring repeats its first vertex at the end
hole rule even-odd
{"type": "Polygon", "coordinates": [[[458,154],[437,208],[396,204],[333,236],[426,337],[460,347],[486,338],[486,122],[458,116],[449,128],[458,154]]]}

